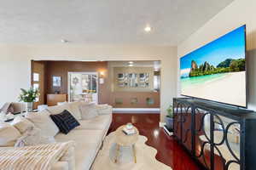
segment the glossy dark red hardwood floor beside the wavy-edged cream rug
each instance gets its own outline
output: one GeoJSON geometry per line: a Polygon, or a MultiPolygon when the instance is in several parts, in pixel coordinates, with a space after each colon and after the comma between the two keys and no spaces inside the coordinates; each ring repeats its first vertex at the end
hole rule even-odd
{"type": "Polygon", "coordinates": [[[109,133],[119,126],[132,122],[140,135],[146,136],[146,144],[158,150],[156,159],[172,167],[173,170],[200,170],[201,168],[192,160],[189,154],[183,150],[180,144],[159,127],[159,114],[113,114],[113,123],[109,133]]]}

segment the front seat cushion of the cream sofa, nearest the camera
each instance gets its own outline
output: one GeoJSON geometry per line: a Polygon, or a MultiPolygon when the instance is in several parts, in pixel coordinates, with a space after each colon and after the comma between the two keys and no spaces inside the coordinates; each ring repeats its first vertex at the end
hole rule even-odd
{"type": "Polygon", "coordinates": [[[102,144],[102,130],[76,130],[74,129],[67,135],[58,133],[55,136],[57,142],[73,140],[75,147],[75,167],[76,170],[90,169],[96,153],[102,144]]]}

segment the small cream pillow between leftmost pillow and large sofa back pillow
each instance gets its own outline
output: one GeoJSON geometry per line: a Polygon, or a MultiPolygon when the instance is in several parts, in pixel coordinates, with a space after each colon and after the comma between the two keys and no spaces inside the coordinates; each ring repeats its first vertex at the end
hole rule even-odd
{"type": "Polygon", "coordinates": [[[20,133],[25,133],[29,127],[35,126],[32,122],[28,121],[23,116],[15,116],[15,119],[11,124],[16,127],[20,133]]]}

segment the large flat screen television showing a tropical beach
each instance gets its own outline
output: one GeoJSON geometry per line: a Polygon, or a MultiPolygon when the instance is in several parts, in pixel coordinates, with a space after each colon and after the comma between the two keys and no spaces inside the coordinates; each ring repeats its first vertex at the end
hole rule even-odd
{"type": "Polygon", "coordinates": [[[180,59],[181,94],[247,107],[246,26],[180,59]]]}

